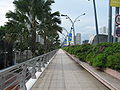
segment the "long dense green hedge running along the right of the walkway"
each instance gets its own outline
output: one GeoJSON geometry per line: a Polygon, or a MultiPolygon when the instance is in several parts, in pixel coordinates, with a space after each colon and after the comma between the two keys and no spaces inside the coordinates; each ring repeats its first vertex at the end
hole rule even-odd
{"type": "Polygon", "coordinates": [[[65,47],[64,50],[94,67],[120,70],[120,43],[83,44],[65,47]]]}

